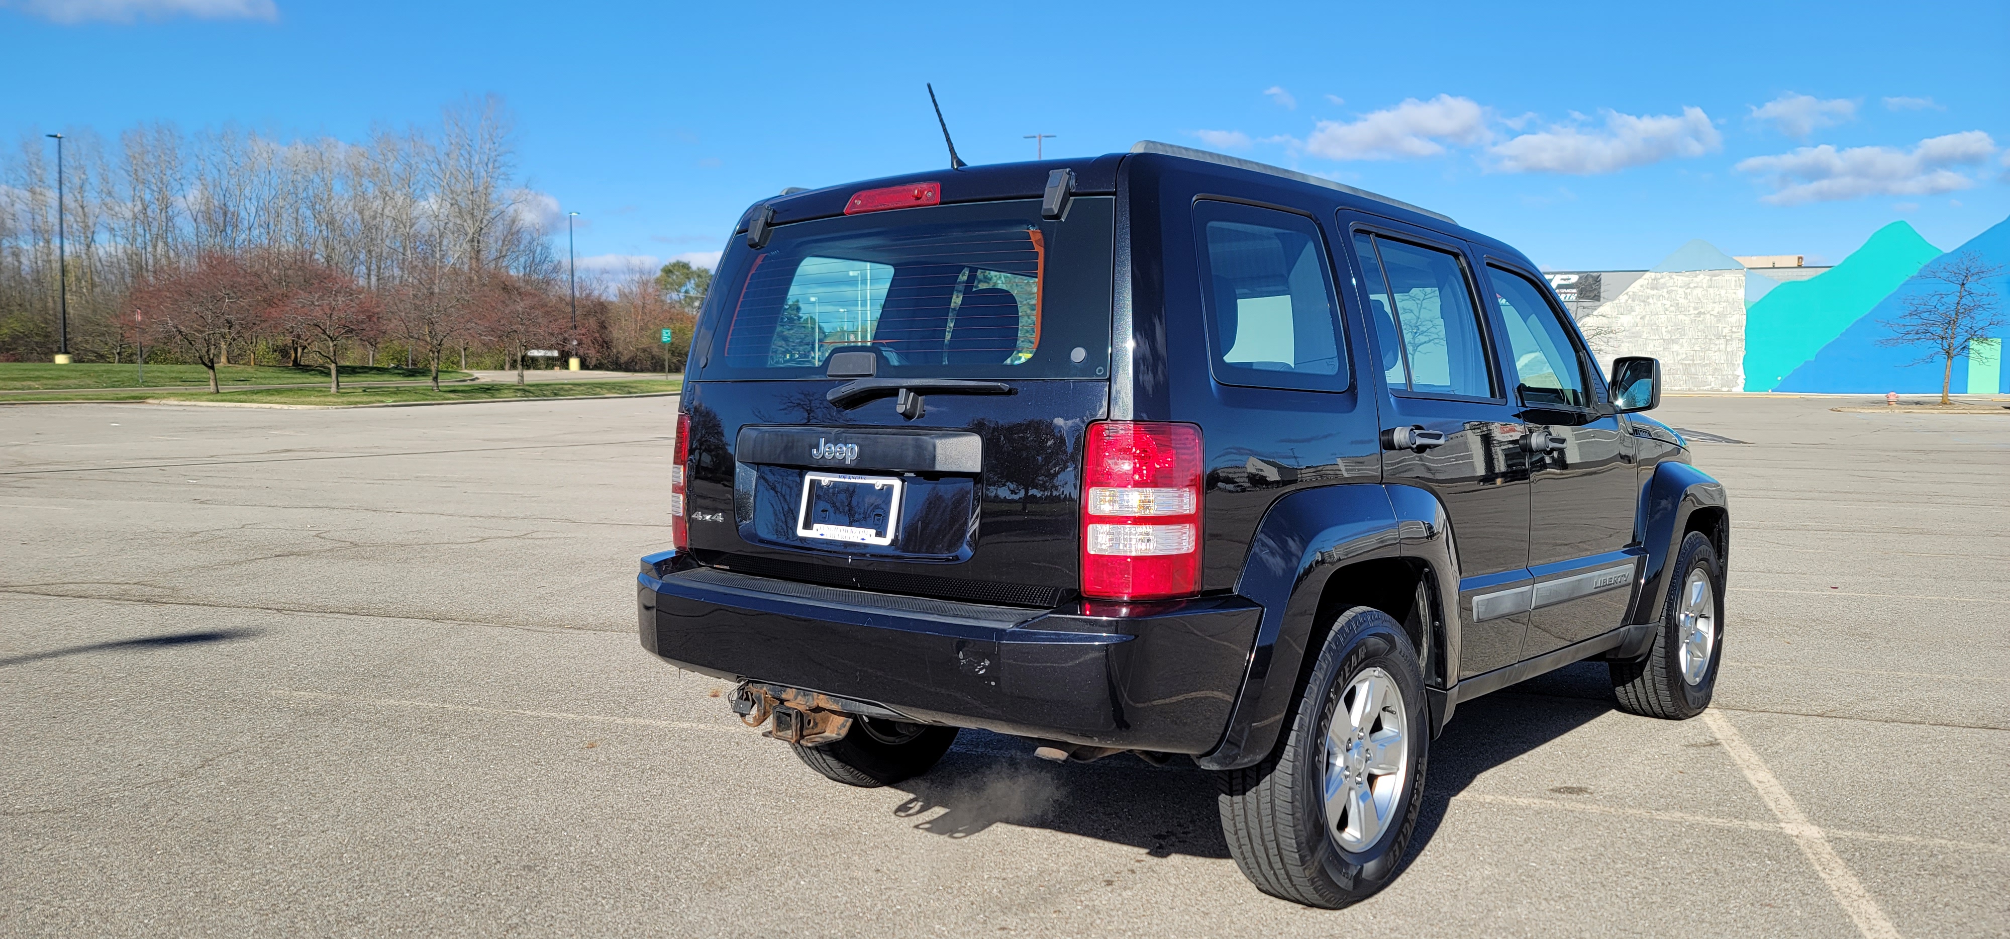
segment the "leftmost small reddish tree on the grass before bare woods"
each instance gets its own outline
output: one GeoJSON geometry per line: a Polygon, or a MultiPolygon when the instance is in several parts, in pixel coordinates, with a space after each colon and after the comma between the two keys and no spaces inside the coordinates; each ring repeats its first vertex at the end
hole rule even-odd
{"type": "Polygon", "coordinates": [[[263,316],[265,296],[257,275],[229,255],[203,255],[193,267],[167,271],[141,284],[131,300],[145,336],[169,342],[209,370],[211,394],[217,364],[231,336],[251,330],[263,316]]]}

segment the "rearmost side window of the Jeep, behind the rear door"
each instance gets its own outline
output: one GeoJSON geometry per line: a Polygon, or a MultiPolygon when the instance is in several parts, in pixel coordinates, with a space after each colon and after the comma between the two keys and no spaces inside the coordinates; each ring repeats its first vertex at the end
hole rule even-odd
{"type": "Polygon", "coordinates": [[[1353,384],[1319,223],[1250,205],[1194,207],[1214,376],[1343,392],[1353,384]]]}

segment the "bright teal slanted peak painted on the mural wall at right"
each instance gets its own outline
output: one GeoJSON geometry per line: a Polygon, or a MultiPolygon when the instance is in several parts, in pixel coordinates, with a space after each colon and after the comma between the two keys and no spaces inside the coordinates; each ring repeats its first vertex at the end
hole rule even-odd
{"type": "Polygon", "coordinates": [[[1745,390],[1771,392],[1940,249],[1893,221],[1827,271],[1773,288],[1745,312],[1745,390]]]}

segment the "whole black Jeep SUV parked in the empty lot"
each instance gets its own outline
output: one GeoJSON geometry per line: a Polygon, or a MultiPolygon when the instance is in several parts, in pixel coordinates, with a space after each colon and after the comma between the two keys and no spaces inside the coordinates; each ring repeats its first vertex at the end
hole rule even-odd
{"type": "Polygon", "coordinates": [[[1459,702],[1602,658],[1700,712],[1729,513],[1520,251],[1140,143],[756,203],[691,342],[641,643],[818,772],[959,728],[1186,756],[1258,889],[1403,859],[1459,702]]]}

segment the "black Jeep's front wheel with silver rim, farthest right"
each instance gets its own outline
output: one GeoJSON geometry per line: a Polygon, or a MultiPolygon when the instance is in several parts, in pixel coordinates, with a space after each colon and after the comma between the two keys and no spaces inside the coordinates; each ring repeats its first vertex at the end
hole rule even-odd
{"type": "Polygon", "coordinates": [[[1725,569],[1708,535],[1682,537],[1670,581],[1648,653],[1608,668],[1622,712],[1688,720],[1711,706],[1725,658],[1725,569]]]}

